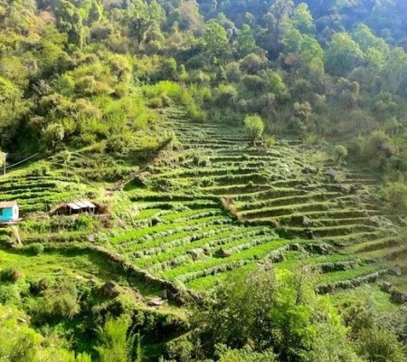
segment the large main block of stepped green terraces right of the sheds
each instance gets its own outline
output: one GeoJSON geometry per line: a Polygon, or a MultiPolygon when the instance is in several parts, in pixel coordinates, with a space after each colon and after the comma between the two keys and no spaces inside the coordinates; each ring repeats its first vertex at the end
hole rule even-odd
{"type": "Polygon", "coordinates": [[[182,110],[165,117],[179,145],[125,186],[137,230],[109,238],[137,267],[206,290],[260,262],[306,264],[320,274],[320,290],[333,291],[377,280],[387,241],[402,248],[401,228],[383,216],[366,172],[332,161],[316,172],[298,142],[268,150],[241,128],[192,124],[182,110]]]}

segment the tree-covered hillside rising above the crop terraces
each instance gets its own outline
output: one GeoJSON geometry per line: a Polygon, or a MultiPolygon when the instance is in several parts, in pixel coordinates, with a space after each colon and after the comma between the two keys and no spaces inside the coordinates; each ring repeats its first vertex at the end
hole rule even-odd
{"type": "Polygon", "coordinates": [[[131,148],[172,99],[196,120],[259,113],[270,134],[364,135],[354,155],[403,170],[407,5],[298,3],[4,0],[1,147],[131,148]],[[183,94],[143,87],[159,81],[183,94]]]}

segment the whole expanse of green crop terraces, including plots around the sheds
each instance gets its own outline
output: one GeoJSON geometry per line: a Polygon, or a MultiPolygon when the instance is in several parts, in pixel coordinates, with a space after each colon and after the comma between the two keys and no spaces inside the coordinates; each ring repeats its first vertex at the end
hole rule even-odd
{"type": "Polygon", "coordinates": [[[266,149],[240,127],[194,124],[176,109],[163,117],[174,146],[140,169],[79,151],[64,167],[51,157],[0,178],[0,200],[18,201],[25,216],[22,243],[97,244],[160,285],[192,291],[259,263],[308,265],[321,292],[379,278],[405,288],[382,277],[407,270],[405,232],[381,209],[373,176],[329,160],[317,170],[315,151],[296,141],[266,149]],[[111,179],[99,179],[104,171],[111,179]],[[88,224],[38,213],[82,197],[111,213],[88,224]]]}

